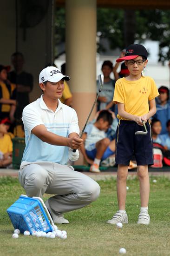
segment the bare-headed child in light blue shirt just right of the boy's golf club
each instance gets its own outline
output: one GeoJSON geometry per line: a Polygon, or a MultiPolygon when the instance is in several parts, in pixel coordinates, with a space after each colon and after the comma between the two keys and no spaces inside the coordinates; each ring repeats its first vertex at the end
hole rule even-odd
{"type": "Polygon", "coordinates": [[[163,145],[162,135],[160,135],[162,130],[161,122],[158,119],[153,118],[150,126],[152,132],[152,141],[163,145]]]}

